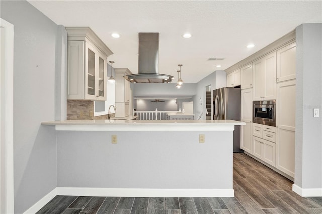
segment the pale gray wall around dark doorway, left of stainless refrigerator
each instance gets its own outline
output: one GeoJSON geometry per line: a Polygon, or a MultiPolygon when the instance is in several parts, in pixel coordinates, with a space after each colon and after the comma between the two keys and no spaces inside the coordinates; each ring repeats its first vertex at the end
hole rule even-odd
{"type": "MultiPolygon", "coordinates": [[[[215,71],[197,83],[196,95],[194,96],[194,114],[199,115],[203,112],[201,119],[206,119],[206,87],[211,85],[211,91],[222,88],[226,86],[226,72],[225,71],[215,71]],[[200,102],[200,97],[202,102],[200,102]]],[[[211,113],[210,113],[211,114],[211,113]]]]}

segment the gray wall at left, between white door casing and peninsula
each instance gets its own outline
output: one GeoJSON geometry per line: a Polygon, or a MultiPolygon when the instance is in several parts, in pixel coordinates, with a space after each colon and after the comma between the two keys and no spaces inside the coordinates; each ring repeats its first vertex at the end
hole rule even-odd
{"type": "Polygon", "coordinates": [[[14,202],[23,213],[57,185],[55,119],[57,25],[26,1],[1,1],[14,25],[14,202]]]}

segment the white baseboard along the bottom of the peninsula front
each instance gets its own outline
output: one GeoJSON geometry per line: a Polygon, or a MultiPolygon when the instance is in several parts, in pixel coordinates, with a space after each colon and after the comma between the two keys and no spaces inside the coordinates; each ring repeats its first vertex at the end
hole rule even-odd
{"type": "Polygon", "coordinates": [[[58,195],[92,197],[234,197],[233,189],[133,189],[57,187],[58,195]]]}

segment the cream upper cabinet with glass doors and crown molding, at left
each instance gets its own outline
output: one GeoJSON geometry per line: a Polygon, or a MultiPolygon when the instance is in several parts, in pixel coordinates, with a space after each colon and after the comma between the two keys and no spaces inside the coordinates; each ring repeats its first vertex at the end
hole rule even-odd
{"type": "Polygon", "coordinates": [[[67,99],[106,100],[107,57],[112,51],[89,27],[66,27],[67,99]]]}

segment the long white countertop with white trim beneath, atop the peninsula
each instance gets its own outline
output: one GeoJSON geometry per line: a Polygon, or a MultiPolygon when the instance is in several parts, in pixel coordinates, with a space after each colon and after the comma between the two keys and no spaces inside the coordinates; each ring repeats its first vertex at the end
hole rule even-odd
{"type": "Polygon", "coordinates": [[[42,122],[59,131],[232,131],[234,120],[65,120],[42,122]]]}

